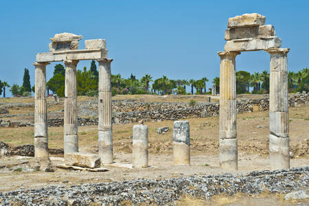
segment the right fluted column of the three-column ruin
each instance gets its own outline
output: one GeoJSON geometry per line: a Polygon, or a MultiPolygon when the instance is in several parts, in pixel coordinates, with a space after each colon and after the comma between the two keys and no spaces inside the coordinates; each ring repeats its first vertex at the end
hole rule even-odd
{"type": "Polygon", "coordinates": [[[113,128],[111,108],[111,62],[113,59],[100,59],[99,62],[99,155],[102,163],[113,163],[113,128]]]}

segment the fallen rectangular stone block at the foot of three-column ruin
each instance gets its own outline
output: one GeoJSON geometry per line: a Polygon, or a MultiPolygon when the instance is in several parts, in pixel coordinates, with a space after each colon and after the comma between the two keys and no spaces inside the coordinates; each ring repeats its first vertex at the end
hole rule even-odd
{"type": "Polygon", "coordinates": [[[66,153],[65,164],[84,168],[99,168],[101,159],[99,155],[94,154],[66,153]]]}

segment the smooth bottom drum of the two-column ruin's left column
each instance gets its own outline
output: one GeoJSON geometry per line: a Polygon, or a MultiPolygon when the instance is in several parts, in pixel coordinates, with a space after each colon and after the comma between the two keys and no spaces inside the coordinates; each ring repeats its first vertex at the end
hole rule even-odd
{"type": "Polygon", "coordinates": [[[238,170],[237,139],[219,139],[220,168],[238,170]]]}

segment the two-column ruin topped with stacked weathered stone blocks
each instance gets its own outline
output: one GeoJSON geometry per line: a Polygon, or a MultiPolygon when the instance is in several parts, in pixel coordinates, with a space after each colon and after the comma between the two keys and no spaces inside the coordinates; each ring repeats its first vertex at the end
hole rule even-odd
{"type": "Polygon", "coordinates": [[[288,137],[287,54],[265,16],[243,14],[229,18],[225,52],[220,56],[220,167],[238,169],[236,133],[236,61],[240,52],[264,50],[271,54],[269,92],[269,160],[271,170],[290,168],[288,137]]]}

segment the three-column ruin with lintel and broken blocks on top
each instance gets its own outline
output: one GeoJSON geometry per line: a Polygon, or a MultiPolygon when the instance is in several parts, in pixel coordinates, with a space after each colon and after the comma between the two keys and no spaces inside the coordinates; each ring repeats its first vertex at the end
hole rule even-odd
{"type": "Polygon", "coordinates": [[[82,36],[62,33],[51,38],[49,52],[36,55],[34,155],[48,157],[46,65],[62,61],[65,64],[64,152],[78,152],[78,115],[76,66],[80,60],[99,62],[98,136],[99,155],[103,163],[113,162],[111,124],[111,62],[104,39],[84,41],[86,49],[78,49],[82,36]]]}

